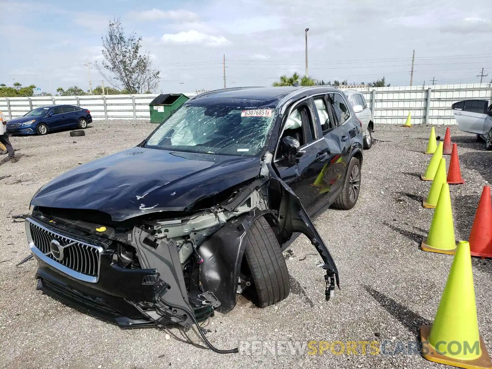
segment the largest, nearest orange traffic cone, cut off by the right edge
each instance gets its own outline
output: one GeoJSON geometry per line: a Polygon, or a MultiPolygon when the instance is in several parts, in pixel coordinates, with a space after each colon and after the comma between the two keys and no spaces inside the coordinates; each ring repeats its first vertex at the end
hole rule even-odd
{"type": "Polygon", "coordinates": [[[473,256],[492,257],[491,187],[484,186],[471,227],[470,252],[473,256]]]}

